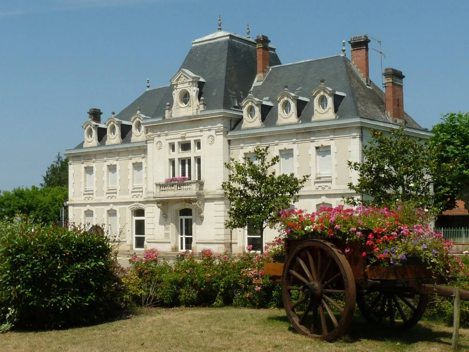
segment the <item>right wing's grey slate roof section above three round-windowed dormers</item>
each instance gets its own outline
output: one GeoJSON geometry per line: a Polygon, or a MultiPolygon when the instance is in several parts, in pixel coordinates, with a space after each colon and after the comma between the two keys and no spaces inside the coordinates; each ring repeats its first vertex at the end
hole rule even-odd
{"type": "MultiPolygon", "coordinates": [[[[373,82],[367,85],[350,60],[337,55],[271,67],[264,81],[254,84],[252,89],[255,98],[274,103],[272,109],[262,116],[264,125],[276,124],[278,104],[275,99],[285,85],[289,92],[310,99],[299,116],[300,121],[310,122],[314,113],[311,92],[320,85],[321,78],[324,78],[325,85],[333,91],[346,94],[344,98],[337,95],[334,97],[338,119],[359,116],[389,122],[384,110],[384,92],[373,82]]],[[[422,129],[409,115],[405,114],[404,120],[406,126],[422,129]]],[[[242,123],[235,129],[241,128],[242,123]]]]}

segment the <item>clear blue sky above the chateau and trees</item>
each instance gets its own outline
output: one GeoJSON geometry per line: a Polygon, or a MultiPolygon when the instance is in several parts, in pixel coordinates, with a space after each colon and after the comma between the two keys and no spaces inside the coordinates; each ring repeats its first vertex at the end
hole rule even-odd
{"type": "MultiPolygon", "coordinates": [[[[90,107],[106,120],[146,78],[168,84],[219,14],[224,31],[245,35],[249,23],[251,37],[267,35],[282,63],[340,54],[355,35],[381,39],[384,67],[406,76],[405,110],[430,129],[469,111],[468,13],[469,1],[1,0],[0,190],[39,185],[83,140],[90,107]]],[[[379,85],[372,50],[370,61],[379,85]]]]}

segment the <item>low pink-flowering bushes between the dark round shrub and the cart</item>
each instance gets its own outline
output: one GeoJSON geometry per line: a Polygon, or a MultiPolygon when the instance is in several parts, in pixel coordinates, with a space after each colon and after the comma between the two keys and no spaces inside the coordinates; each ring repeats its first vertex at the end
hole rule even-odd
{"type": "Polygon", "coordinates": [[[263,272],[267,256],[242,253],[214,255],[203,250],[200,259],[184,252],[173,265],[153,257],[134,256],[128,271],[128,291],[134,303],[144,306],[149,293],[159,306],[281,306],[280,285],[270,282],[263,272]],[[130,278],[138,277],[132,281],[130,278]],[[136,283],[136,285],[135,285],[136,283]],[[154,291],[151,291],[154,290],[154,291]]]}

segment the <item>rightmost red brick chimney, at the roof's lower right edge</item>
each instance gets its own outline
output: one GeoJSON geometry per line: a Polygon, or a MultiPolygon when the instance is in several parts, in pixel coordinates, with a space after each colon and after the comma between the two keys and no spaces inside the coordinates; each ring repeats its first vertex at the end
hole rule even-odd
{"type": "Polygon", "coordinates": [[[405,77],[398,69],[384,69],[386,114],[392,122],[404,122],[404,92],[402,79],[405,77]],[[396,121],[397,120],[397,121],[396,121]]]}

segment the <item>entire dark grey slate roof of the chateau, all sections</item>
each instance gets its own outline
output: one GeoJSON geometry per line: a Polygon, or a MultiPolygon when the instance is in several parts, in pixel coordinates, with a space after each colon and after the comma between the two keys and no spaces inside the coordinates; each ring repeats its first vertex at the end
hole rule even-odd
{"type": "MultiPolygon", "coordinates": [[[[275,125],[278,116],[275,99],[283,92],[285,85],[288,85],[290,92],[310,99],[306,105],[303,103],[300,120],[311,121],[314,112],[311,92],[319,86],[321,78],[325,79],[325,85],[332,90],[346,94],[343,99],[336,95],[334,100],[339,119],[361,116],[388,122],[384,113],[383,91],[372,82],[367,86],[347,57],[337,55],[282,65],[275,48],[269,48],[270,70],[263,82],[254,85],[257,74],[256,42],[225,31],[217,31],[192,42],[181,69],[188,69],[204,78],[205,82],[199,83],[199,94],[204,97],[205,110],[239,109],[232,106],[231,98],[236,97],[240,106],[251,88],[255,98],[269,97],[267,100],[273,103],[273,107],[263,117],[265,126],[275,125]]],[[[115,117],[130,121],[137,113],[137,107],[140,107],[142,115],[164,119],[166,103],[173,105],[173,89],[173,85],[169,84],[145,91],[115,117]]],[[[409,115],[404,115],[406,126],[422,129],[409,115]]],[[[241,126],[242,122],[234,129],[240,129],[241,126]]],[[[106,133],[106,129],[103,130],[99,132],[106,133]]],[[[100,145],[104,145],[106,136],[100,137],[100,145]]],[[[130,143],[131,129],[122,130],[121,137],[122,143],[130,143]]],[[[79,148],[83,148],[83,142],[75,149],[79,148]]]]}

